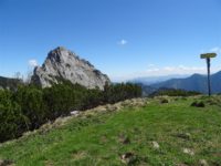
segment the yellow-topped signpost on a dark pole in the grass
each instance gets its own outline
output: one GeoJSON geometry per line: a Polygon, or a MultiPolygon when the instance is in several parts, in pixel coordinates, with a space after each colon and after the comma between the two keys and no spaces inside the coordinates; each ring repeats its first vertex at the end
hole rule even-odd
{"type": "Polygon", "coordinates": [[[206,59],[207,61],[207,69],[208,69],[208,95],[211,95],[211,85],[210,85],[210,59],[215,58],[217,53],[204,53],[201,54],[201,59],[206,59]]]}

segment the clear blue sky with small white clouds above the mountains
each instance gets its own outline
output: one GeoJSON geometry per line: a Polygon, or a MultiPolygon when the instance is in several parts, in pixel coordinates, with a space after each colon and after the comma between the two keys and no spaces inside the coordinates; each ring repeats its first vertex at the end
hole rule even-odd
{"type": "Polygon", "coordinates": [[[59,45],[113,81],[204,73],[200,53],[221,53],[220,15],[220,0],[0,0],[0,75],[25,74],[59,45]]]}

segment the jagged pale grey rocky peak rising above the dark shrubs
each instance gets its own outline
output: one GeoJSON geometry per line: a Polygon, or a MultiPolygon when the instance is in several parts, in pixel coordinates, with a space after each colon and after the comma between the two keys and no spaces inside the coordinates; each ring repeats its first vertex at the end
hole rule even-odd
{"type": "Polygon", "coordinates": [[[110,83],[107,75],[96,70],[88,61],[80,59],[75,53],[59,46],[52,50],[42,66],[36,66],[31,82],[42,87],[62,83],[67,80],[87,89],[104,89],[110,83]]]}

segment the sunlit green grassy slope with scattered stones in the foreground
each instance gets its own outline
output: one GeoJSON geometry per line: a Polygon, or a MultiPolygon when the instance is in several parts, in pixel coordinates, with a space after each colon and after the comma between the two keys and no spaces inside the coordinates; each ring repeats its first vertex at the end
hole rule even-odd
{"type": "Polygon", "coordinates": [[[72,118],[51,131],[36,132],[0,145],[0,158],[19,166],[77,165],[221,165],[221,107],[219,96],[150,100],[144,107],[95,113],[72,118]],[[124,139],[127,139],[124,143],[124,139]],[[152,146],[159,144],[159,148],[152,146]],[[193,155],[183,153],[190,149],[193,155]],[[127,164],[120,156],[131,153],[127,164]]]}

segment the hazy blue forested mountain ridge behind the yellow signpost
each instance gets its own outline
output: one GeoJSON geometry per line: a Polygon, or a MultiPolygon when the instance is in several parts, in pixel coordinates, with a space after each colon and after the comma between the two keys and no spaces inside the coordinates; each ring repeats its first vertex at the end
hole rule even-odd
{"type": "MultiPolygon", "coordinates": [[[[221,71],[211,75],[212,93],[221,93],[221,71]]],[[[207,76],[193,74],[186,79],[171,79],[161,83],[151,84],[155,89],[180,89],[186,91],[197,91],[200,93],[208,92],[207,76]]]]}

